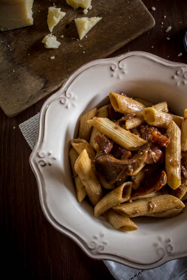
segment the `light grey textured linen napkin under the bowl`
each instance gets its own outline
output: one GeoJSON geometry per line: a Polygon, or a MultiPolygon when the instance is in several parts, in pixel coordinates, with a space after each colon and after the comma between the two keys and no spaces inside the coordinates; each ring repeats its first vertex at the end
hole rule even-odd
{"type": "MultiPolygon", "coordinates": [[[[38,134],[39,113],[34,117],[24,121],[19,128],[33,149],[38,134]]],[[[186,280],[187,279],[187,257],[178,260],[171,260],[160,267],[148,270],[138,270],[126,265],[104,260],[104,264],[108,267],[110,273],[116,280],[186,280]]]]}

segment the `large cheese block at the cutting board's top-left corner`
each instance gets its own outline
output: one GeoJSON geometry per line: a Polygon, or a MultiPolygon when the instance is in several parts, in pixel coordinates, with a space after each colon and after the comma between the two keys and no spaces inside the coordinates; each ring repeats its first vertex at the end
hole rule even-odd
{"type": "Polygon", "coordinates": [[[33,0],[0,0],[0,30],[33,25],[33,0]]]}

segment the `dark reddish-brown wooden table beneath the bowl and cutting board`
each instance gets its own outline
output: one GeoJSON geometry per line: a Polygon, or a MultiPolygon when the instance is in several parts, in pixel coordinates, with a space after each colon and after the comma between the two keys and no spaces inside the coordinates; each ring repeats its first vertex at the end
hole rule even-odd
{"type": "MultiPolygon", "coordinates": [[[[186,1],[143,2],[155,19],[154,28],[110,57],[127,51],[146,51],[187,63],[183,48],[186,1]],[[172,28],[166,33],[168,26],[172,28]],[[178,56],[181,52],[183,55],[178,56]]],[[[114,279],[102,261],[89,258],[77,244],[56,231],[41,210],[37,182],[28,160],[31,149],[18,125],[39,112],[46,99],[12,119],[0,109],[1,240],[5,245],[2,268],[7,268],[6,277],[12,274],[19,279],[114,279]]]]}

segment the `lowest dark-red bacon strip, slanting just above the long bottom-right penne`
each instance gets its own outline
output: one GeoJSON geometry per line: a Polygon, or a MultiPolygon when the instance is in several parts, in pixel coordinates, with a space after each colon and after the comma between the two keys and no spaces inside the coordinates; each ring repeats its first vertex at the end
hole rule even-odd
{"type": "Polygon", "coordinates": [[[139,195],[146,195],[152,192],[157,192],[167,183],[167,175],[165,170],[158,170],[146,179],[143,186],[138,188],[131,198],[139,195]]]}

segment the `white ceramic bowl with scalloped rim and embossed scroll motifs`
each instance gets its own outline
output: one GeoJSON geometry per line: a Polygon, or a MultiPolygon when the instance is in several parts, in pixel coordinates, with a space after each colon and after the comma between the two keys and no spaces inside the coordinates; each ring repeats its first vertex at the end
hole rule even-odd
{"type": "Polygon", "coordinates": [[[137,51],[83,65],[43,105],[30,164],[51,225],[92,258],[151,269],[187,256],[187,207],[172,219],[134,218],[139,229],[121,232],[103,216],[95,218],[92,206],[76,198],[68,159],[70,140],[78,134],[80,117],[107,104],[110,91],[153,103],[167,101],[182,115],[187,108],[187,65],[137,51]]]}

